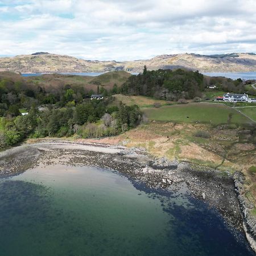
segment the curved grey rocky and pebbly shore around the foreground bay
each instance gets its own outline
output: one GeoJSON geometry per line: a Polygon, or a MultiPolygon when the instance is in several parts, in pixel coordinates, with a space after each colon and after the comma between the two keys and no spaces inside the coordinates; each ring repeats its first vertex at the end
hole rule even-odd
{"type": "Polygon", "coordinates": [[[138,148],[43,141],[0,152],[0,177],[49,164],[110,168],[126,175],[134,185],[139,183],[154,189],[175,191],[183,185],[191,197],[205,201],[209,208],[216,208],[231,229],[244,229],[251,247],[256,250],[256,223],[249,213],[251,205],[242,195],[241,174],[195,170],[188,163],[152,158],[138,148]]]}

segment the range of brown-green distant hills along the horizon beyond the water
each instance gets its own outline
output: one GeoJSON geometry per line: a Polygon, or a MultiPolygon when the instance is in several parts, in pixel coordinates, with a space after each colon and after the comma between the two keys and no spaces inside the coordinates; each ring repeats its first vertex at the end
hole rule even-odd
{"type": "Polygon", "coordinates": [[[0,71],[20,73],[56,72],[142,72],[148,70],[187,68],[200,72],[250,72],[256,71],[255,53],[228,53],[222,55],[199,55],[182,53],[160,55],[148,60],[98,61],[84,60],[67,55],[36,52],[31,55],[1,57],[0,71]]]}

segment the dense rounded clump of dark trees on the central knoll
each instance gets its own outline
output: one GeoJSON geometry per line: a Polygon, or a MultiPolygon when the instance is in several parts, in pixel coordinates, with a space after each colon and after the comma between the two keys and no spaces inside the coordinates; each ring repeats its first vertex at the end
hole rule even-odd
{"type": "Polygon", "coordinates": [[[122,93],[143,95],[164,100],[179,100],[200,96],[205,89],[204,76],[199,72],[159,69],[134,75],[122,86],[122,93]]]}

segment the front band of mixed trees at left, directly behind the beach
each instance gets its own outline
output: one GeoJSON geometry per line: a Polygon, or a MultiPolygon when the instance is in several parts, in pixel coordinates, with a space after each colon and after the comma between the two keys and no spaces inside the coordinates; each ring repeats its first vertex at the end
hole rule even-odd
{"type": "Polygon", "coordinates": [[[25,138],[64,137],[98,138],[117,135],[137,126],[142,119],[138,106],[108,106],[107,101],[88,100],[76,107],[39,112],[35,105],[28,115],[0,118],[0,146],[25,138]]]}

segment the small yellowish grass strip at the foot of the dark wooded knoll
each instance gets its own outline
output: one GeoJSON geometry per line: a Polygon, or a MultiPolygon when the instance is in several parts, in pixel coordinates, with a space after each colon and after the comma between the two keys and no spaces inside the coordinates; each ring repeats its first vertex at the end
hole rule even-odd
{"type": "Polygon", "coordinates": [[[161,106],[167,105],[167,101],[164,100],[155,100],[154,98],[146,97],[146,96],[126,96],[123,94],[115,94],[115,101],[112,103],[113,105],[119,104],[119,101],[122,101],[123,104],[128,106],[138,105],[141,108],[148,108],[154,106],[155,103],[160,104],[161,106]]]}

